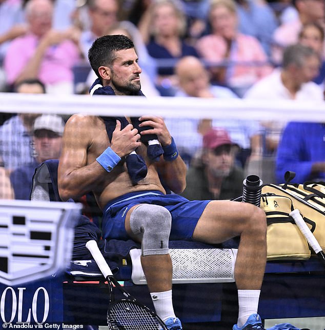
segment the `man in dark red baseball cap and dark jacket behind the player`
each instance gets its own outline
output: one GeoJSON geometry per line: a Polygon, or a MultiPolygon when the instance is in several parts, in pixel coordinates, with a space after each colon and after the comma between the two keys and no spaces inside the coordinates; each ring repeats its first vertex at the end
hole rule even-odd
{"type": "Polygon", "coordinates": [[[242,193],[243,170],[235,165],[238,146],[223,128],[203,137],[199,162],[191,164],[187,186],[181,194],[189,200],[232,199],[242,193]]]}

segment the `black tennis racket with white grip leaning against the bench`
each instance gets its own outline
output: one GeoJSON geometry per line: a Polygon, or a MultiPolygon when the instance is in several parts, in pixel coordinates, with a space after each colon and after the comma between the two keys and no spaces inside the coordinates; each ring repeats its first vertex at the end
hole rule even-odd
{"type": "Polygon", "coordinates": [[[107,279],[110,293],[107,324],[110,330],[167,330],[166,325],[150,308],[139,303],[114,278],[111,269],[101,254],[96,241],[86,243],[101,273],[107,279]],[[125,296],[115,300],[113,285],[125,296]]]}

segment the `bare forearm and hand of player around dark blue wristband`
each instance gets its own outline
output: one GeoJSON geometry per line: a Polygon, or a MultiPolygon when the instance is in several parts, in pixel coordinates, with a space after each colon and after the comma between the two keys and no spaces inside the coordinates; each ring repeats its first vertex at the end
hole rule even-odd
{"type": "MultiPolygon", "coordinates": [[[[139,118],[139,121],[141,122],[139,124],[140,127],[153,127],[153,129],[142,131],[140,133],[141,135],[156,134],[162,148],[164,149],[172,144],[172,137],[162,117],[150,114],[142,115],[139,118]]],[[[176,158],[168,160],[165,160],[164,157],[161,156],[159,162],[156,163],[156,168],[161,178],[173,192],[180,193],[185,189],[187,167],[179,155],[176,158]]]]}

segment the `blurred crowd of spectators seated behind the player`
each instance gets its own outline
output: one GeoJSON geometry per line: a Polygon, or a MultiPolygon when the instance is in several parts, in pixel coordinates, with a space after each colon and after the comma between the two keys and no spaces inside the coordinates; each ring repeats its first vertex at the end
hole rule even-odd
{"type": "MultiPolygon", "coordinates": [[[[324,16],[323,0],[0,0],[0,92],[88,94],[88,49],[125,34],[148,98],[322,101],[324,16]]],[[[180,117],[166,124],[192,173],[191,199],[236,197],[249,162],[266,156],[278,183],[290,169],[298,181],[325,180],[325,124],[180,117]]],[[[1,115],[0,198],[28,199],[34,167],[59,157],[63,127],[1,115]]]]}

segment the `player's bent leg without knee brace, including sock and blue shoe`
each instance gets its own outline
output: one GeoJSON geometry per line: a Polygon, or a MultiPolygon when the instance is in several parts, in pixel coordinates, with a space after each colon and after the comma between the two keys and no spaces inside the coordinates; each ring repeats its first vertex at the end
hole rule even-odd
{"type": "Polygon", "coordinates": [[[212,201],[202,213],[193,239],[220,243],[240,235],[235,263],[239,315],[233,329],[263,329],[257,314],[260,287],[266,265],[266,216],[249,203],[212,201]]]}

